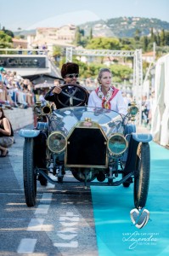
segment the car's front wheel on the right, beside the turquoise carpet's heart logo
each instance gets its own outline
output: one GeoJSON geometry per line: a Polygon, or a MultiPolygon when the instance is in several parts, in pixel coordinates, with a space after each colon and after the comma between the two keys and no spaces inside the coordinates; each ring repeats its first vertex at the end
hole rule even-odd
{"type": "Polygon", "coordinates": [[[134,205],[143,208],[149,191],[150,152],[149,143],[139,143],[136,172],[134,173],[134,205]]]}

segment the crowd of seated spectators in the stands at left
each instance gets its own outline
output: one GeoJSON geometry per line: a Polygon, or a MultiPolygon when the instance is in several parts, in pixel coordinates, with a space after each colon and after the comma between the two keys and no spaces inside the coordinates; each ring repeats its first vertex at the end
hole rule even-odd
{"type": "Polygon", "coordinates": [[[0,104],[4,108],[29,108],[35,101],[33,84],[29,79],[0,67],[0,104]]]}

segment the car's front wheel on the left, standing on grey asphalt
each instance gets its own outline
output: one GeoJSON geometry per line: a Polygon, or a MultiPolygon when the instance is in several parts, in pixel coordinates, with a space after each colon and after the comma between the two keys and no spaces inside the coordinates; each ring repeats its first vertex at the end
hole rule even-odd
{"type": "Polygon", "coordinates": [[[25,138],[23,152],[23,176],[25,203],[28,207],[34,207],[37,201],[37,175],[34,164],[33,138],[25,138]]]}

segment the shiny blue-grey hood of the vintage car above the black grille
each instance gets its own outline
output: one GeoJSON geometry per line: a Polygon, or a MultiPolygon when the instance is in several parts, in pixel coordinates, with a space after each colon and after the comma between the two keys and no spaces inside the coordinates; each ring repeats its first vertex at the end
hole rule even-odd
{"type": "MultiPolygon", "coordinates": [[[[68,135],[73,126],[89,121],[102,127],[104,133],[123,133],[124,115],[105,108],[71,107],[60,108],[49,116],[50,131],[62,131],[68,135]]],[[[90,125],[89,125],[90,126],[90,125]]],[[[88,126],[88,128],[90,128],[88,126]]]]}

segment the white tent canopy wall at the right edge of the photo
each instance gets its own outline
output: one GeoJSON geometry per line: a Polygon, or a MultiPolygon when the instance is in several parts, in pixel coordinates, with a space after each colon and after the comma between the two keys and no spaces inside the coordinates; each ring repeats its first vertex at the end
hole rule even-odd
{"type": "Polygon", "coordinates": [[[154,141],[169,144],[169,54],[155,65],[155,102],[152,109],[151,132],[154,141]]]}

